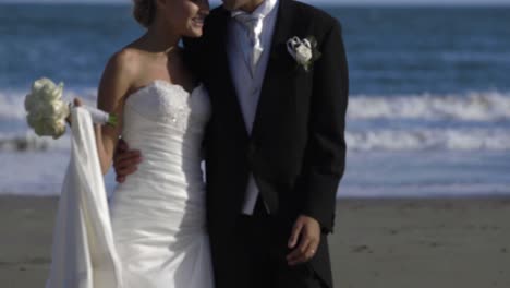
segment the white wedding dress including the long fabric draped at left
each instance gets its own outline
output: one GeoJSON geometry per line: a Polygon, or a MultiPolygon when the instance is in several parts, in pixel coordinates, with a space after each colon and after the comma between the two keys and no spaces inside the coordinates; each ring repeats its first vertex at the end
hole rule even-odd
{"type": "Polygon", "coordinates": [[[143,161],[108,205],[89,116],[73,111],[73,143],[47,288],[211,288],[201,147],[210,103],[153,81],[130,95],[122,137],[143,161]]]}

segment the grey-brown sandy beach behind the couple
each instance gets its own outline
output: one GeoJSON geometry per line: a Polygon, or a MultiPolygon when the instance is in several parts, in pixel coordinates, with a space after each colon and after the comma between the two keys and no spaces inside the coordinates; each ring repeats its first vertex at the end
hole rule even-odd
{"type": "MultiPolygon", "coordinates": [[[[0,286],[44,287],[56,197],[0,197],[0,286]]],[[[337,288],[510,287],[510,199],[341,200],[337,288]]]]}

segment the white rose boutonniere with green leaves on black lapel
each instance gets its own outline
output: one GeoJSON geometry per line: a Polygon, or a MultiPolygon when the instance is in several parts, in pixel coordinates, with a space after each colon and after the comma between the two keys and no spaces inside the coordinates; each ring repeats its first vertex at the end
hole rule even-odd
{"type": "Polygon", "coordinates": [[[306,72],[320,58],[320,52],[317,50],[317,40],[314,36],[308,36],[304,39],[300,39],[296,36],[290,38],[287,40],[287,50],[306,72]]]}

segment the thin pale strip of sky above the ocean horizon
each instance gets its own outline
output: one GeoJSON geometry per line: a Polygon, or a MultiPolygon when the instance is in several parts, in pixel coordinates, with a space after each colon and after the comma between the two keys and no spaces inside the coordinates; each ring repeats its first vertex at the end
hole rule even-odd
{"type": "MultiPolygon", "coordinates": [[[[219,0],[210,0],[219,2],[219,0]]],[[[510,5],[510,0],[301,0],[302,2],[330,3],[330,4],[505,4],[510,5]]],[[[48,2],[48,3],[130,3],[131,0],[0,0],[0,3],[20,3],[20,2],[48,2]]]]}

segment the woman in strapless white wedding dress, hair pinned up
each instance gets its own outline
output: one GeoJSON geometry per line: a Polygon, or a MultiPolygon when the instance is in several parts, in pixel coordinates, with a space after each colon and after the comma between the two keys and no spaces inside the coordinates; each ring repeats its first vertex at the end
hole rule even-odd
{"type": "Polygon", "coordinates": [[[96,255],[101,261],[89,268],[100,273],[93,284],[84,285],[80,272],[59,275],[65,268],[54,264],[56,250],[61,248],[53,242],[50,288],[111,288],[112,283],[120,288],[212,287],[201,170],[210,104],[178,46],[182,37],[202,36],[209,7],[207,0],[134,2],[134,16],[147,31],[111,57],[98,91],[98,108],[116,113],[120,121],[116,127],[94,127],[104,175],[120,135],[144,155],[137,171],[117,187],[111,199],[111,226],[105,233],[112,235],[112,244],[87,247],[92,253],[111,253],[113,267],[105,268],[107,261],[101,261],[107,256],[96,255]]]}

